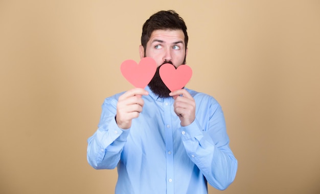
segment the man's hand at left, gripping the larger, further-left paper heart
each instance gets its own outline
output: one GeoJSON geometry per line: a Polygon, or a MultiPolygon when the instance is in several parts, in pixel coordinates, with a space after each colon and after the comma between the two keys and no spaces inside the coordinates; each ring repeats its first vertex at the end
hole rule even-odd
{"type": "Polygon", "coordinates": [[[148,92],[141,88],[134,88],[119,97],[116,122],[120,128],[129,129],[132,119],[139,117],[144,104],[141,95],[148,95],[148,92]]]}

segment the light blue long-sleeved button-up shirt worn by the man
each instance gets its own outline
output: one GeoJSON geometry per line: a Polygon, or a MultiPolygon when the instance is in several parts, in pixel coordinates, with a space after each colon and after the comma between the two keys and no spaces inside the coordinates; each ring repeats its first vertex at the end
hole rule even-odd
{"type": "Polygon", "coordinates": [[[99,128],[88,138],[87,160],[95,169],[118,169],[117,194],[208,193],[207,181],[225,189],[238,163],[230,147],[221,106],[211,96],[187,89],[196,118],[182,127],[173,98],[158,98],[149,87],[131,128],[118,127],[121,94],[106,98],[99,128]]]}

